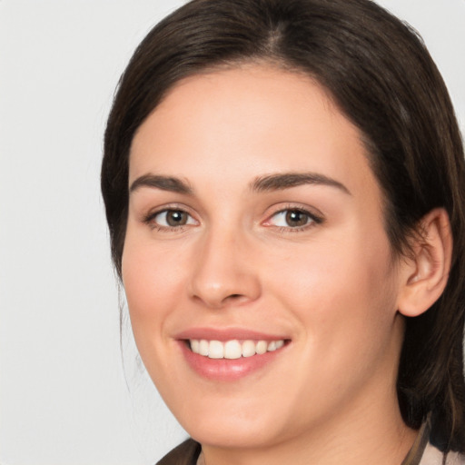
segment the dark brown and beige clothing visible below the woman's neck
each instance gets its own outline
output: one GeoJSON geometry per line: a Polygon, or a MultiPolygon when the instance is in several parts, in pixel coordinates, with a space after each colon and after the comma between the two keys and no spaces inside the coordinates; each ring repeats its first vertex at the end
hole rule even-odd
{"type": "MultiPolygon", "coordinates": [[[[450,452],[444,457],[440,450],[430,444],[430,423],[420,428],[417,439],[401,465],[465,465],[465,455],[450,452]]],[[[194,440],[185,440],[158,461],[156,465],[203,465],[202,447],[194,440]]]]}

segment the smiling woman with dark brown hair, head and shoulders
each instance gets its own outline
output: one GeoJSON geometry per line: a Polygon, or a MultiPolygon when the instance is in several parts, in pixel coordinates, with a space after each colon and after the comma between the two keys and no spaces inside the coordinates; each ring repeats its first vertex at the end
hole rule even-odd
{"type": "Polygon", "coordinates": [[[464,463],[465,165],[368,0],[193,0],[114,99],[102,187],[160,463],[464,463]],[[428,461],[429,460],[429,461],[428,461]]]}

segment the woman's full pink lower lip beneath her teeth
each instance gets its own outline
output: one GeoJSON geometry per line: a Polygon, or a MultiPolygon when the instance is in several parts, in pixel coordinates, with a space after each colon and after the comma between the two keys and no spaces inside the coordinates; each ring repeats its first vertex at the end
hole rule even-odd
{"type": "Polygon", "coordinates": [[[236,381],[255,371],[262,370],[269,365],[286,348],[252,355],[252,357],[241,357],[239,359],[209,359],[198,353],[193,353],[187,347],[185,341],[179,341],[181,350],[189,366],[203,378],[213,381],[236,381]]]}

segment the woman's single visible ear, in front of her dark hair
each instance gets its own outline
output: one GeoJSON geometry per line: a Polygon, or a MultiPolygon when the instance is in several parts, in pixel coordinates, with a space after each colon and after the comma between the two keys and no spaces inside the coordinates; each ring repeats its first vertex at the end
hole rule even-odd
{"type": "Polygon", "coordinates": [[[443,208],[426,214],[419,223],[413,256],[400,264],[398,310],[405,316],[426,312],[446,287],[452,255],[449,215],[443,208]]]}

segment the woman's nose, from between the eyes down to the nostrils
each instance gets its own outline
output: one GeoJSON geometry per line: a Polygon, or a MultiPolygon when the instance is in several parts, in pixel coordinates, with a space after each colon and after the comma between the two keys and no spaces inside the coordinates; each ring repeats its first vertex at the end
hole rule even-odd
{"type": "Polygon", "coordinates": [[[191,298],[211,309],[258,299],[262,290],[253,256],[252,243],[240,233],[205,234],[194,259],[191,298]]]}

